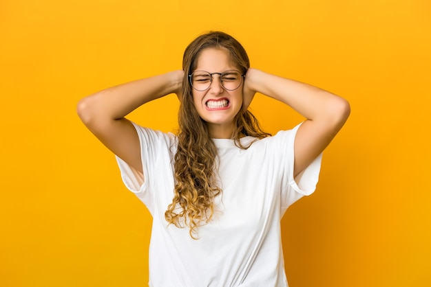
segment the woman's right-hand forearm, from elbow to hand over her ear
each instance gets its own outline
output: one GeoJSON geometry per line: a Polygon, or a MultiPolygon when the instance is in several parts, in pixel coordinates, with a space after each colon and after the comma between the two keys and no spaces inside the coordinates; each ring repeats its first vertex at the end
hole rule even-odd
{"type": "Polygon", "coordinates": [[[289,80],[257,69],[247,73],[249,89],[284,102],[310,120],[342,121],[348,108],[346,101],[328,91],[309,84],[289,80]]]}

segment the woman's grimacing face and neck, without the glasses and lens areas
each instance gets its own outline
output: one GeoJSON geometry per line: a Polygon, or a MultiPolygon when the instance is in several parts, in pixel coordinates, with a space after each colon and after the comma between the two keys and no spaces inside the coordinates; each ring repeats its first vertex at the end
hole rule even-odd
{"type": "Polygon", "coordinates": [[[217,74],[229,70],[239,69],[232,64],[226,49],[207,48],[200,52],[194,71],[207,71],[214,74],[209,89],[197,91],[192,88],[193,104],[200,117],[207,122],[209,133],[213,138],[231,138],[235,124],[233,119],[242,106],[244,81],[241,80],[238,89],[229,91],[224,89],[220,75],[217,74]]]}

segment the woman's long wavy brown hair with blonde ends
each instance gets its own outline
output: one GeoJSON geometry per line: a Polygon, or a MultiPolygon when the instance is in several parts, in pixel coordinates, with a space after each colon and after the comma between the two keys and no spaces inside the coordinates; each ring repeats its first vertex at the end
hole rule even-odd
{"type": "MultiPolygon", "coordinates": [[[[165,212],[169,224],[189,227],[191,238],[197,239],[198,227],[207,224],[214,214],[214,198],[222,190],[218,186],[218,152],[213,143],[207,123],[199,116],[193,104],[192,87],[188,75],[196,69],[200,52],[216,48],[229,51],[233,65],[243,74],[250,67],[249,56],[244,47],[224,32],[208,32],[198,36],[185,49],[182,69],[182,95],[178,111],[178,147],[174,157],[175,190],[172,203],[165,212]]],[[[243,83],[244,84],[244,83],[243,83]]],[[[242,89],[242,86],[239,89],[242,89]]],[[[240,111],[235,116],[235,128],[231,138],[239,148],[243,136],[262,139],[269,136],[259,126],[250,111],[240,111]]]]}

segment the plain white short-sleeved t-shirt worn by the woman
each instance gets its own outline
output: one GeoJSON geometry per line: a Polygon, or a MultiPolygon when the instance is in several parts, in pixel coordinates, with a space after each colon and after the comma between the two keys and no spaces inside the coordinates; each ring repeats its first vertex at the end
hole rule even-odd
{"type": "MultiPolygon", "coordinates": [[[[313,193],[322,155],[293,180],[297,128],[255,141],[247,150],[232,139],[213,139],[220,156],[222,194],[211,222],[189,228],[169,225],[165,211],[174,191],[176,136],[135,124],[145,183],[140,186],[117,157],[122,179],[153,216],[149,246],[151,287],[288,286],[284,273],[280,220],[286,209],[313,193]]],[[[243,137],[244,146],[253,137],[243,137]]]]}

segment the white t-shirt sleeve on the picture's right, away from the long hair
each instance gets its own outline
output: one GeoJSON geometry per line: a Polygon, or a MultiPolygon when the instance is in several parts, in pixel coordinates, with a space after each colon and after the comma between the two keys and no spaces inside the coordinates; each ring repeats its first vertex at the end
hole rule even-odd
{"type": "Polygon", "coordinates": [[[322,163],[322,154],[319,154],[307,168],[296,176],[296,181],[293,176],[293,169],[295,163],[295,137],[297,130],[301,124],[295,126],[292,130],[281,131],[275,137],[281,137],[280,149],[282,152],[282,161],[284,165],[282,174],[282,194],[281,194],[281,207],[282,213],[295,203],[302,196],[312,194],[317,182],[319,181],[320,167],[322,163]],[[287,144],[286,144],[287,143],[287,144]]]}

